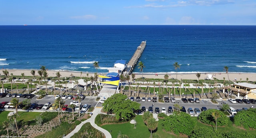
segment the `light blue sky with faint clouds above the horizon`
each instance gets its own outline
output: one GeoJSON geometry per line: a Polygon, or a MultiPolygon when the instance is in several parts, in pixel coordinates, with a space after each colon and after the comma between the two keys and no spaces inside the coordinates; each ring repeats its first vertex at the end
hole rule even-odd
{"type": "Polygon", "coordinates": [[[256,0],[0,0],[0,25],[256,25],[256,0]]]}

